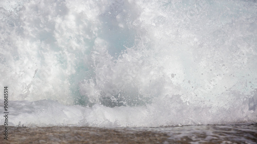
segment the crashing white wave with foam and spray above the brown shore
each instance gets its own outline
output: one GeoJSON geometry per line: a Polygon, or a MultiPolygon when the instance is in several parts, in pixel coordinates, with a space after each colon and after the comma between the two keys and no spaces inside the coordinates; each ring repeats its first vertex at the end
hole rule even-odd
{"type": "Polygon", "coordinates": [[[257,121],[255,1],[2,1],[0,33],[13,126],[257,121]]]}

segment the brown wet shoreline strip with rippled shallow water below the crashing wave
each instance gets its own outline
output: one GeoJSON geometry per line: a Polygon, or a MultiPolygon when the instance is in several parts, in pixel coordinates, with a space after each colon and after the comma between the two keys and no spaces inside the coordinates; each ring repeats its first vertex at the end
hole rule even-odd
{"type": "Polygon", "coordinates": [[[8,141],[3,137],[0,143],[257,143],[257,123],[160,128],[8,127],[8,141]]]}

